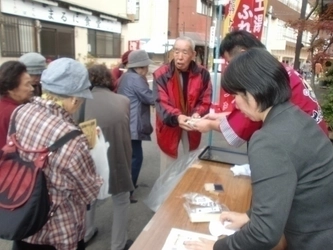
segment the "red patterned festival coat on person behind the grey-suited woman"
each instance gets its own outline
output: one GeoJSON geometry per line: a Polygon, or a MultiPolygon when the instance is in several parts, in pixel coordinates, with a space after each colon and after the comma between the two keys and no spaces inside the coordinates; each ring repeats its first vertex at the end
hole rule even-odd
{"type": "MultiPolygon", "coordinates": [[[[285,66],[289,78],[292,96],[290,101],[309,114],[328,135],[327,125],[316,96],[308,84],[293,68],[285,66]]],[[[235,147],[249,141],[252,134],[261,128],[261,122],[253,122],[238,109],[233,108],[229,116],[221,120],[220,129],[227,142],[235,147]]]]}

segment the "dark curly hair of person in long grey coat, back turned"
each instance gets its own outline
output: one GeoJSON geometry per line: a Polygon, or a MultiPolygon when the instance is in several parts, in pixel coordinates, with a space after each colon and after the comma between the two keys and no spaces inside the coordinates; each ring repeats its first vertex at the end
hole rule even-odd
{"type": "Polygon", "coordinates": [[[92,88],[96,86],[112,87],[111,72],[104,64],[95,64],[88,68],[88,72],[92,88]]]}

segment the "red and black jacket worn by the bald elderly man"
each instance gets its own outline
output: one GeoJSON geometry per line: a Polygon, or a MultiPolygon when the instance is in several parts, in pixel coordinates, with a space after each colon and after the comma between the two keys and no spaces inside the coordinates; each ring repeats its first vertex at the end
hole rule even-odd
{"type": "MultiPolygon", "coordinates": [[[[182,129],[178,126],[177,117],[182,114],[180,93],[173,80],[175,64],[172,61],[157,69],[154,73],[153,92],[156,104],[156,137],[161,150],[174,158],[178,157],[178,144],[182,129]]],[[[211,104],[212,84],[209,72],[191,62],[187,85],[188,115],[208,113],[211,104]]],[[[199,147],[201,133],[188,132],[190,150],[199,147]]]]}

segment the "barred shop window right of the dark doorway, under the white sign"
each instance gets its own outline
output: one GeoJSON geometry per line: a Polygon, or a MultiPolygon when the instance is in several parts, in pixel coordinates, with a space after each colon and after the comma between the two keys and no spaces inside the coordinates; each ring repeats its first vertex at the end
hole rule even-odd
{"type": "Polygon", "coordinates": [[[95,57],[120,57],[120,34],[88,30],[89,53],[95,57]]]}

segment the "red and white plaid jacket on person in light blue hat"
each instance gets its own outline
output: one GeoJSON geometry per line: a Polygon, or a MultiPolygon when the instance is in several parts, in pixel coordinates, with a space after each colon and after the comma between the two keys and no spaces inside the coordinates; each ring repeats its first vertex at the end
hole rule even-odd
{"type": "MultiPolygon", "coordinates": [[[[11,120],[12,122],[12,120],[11,120]]],[[[24,105],[15,120],[17,140],[24,148],[38,149],[78,129],[71,115],[59,105],[35,97],[24,105]]],[[[32,160],[34,153],[20,152],[32,160]]],[[[87,139],[80,135],[52,153],[44,168],[51,210],[54,215],[35,235],[25,239],[33,244],[53,245],[58,250],[75,250],[84,238],[86,205],[97,197],[102,179],[96,175],[87,139]]]]}

